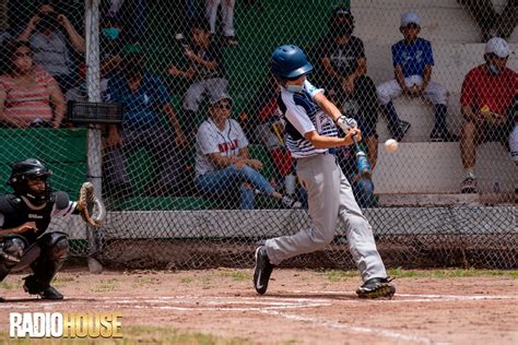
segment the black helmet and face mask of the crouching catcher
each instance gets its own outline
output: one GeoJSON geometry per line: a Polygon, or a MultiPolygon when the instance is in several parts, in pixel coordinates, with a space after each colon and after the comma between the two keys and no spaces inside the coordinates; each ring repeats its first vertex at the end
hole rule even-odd
{"type": "Polygon", "coordinates": [[[14,192],[27,198],[34,205],[43,205],[50,201],[52,188],[48,177],[52,171],[47,169],[45,164],[35,158],[27,158],[13,164],[8,185],[14,189],[14,192]],[[45,182],[44,190],[34,190],[28,187],[30,180],[39,179],[45,182]]]}

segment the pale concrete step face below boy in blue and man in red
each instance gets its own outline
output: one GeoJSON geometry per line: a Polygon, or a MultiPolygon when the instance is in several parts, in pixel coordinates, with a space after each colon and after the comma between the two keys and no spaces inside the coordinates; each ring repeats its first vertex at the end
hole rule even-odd
{"type": "MultiPolygon", "coordinates": [[[[492,192],[495,182],[502,192],[518,186],[517,166],[499,143],[479,146],[475,174],[483,193],[492,192]]],[[[373,174],[378,194],[459,193],[463,178],[459,143],[401,142],[398,152],[389,154],[380,140],[373,174]]]]}

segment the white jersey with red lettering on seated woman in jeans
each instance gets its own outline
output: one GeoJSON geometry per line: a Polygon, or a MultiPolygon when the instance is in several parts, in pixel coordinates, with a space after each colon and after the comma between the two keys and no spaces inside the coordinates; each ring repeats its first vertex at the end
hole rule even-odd
{"type": "Polygon", "coordinates": [[[224,157],[237,156],[246,146],[248,140],[236,120],[226,120],[223,130],[212,120],[203,121],[196,134],[196,176],[220,169],[209,160],[210,154],[219,152],[224,157]]]}

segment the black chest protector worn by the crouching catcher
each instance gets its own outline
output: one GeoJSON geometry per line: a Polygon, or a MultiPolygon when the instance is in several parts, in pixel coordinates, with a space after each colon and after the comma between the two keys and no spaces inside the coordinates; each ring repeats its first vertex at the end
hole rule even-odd
{"type": "Polygon", "coordinates": [[[36,241],[36,238],[47,230],[50,223],[54,202],[48,202],[42,210],[32,210],[25,202],[14,194],[0,195],[0,213],[3,214],[3,229],[20,226],[26,222],[36,223],[36,233],[26,231],[21,236],[25,237],[28,243],[36,241]]]}

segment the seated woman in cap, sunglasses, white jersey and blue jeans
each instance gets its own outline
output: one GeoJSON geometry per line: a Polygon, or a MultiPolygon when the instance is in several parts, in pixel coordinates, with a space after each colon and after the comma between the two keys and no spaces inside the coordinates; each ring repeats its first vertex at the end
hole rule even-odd
{"type": "Polygon", "coordinates": [[[259,172],[262,163],[249,157],[248,140],[231,115],[228,95],[211,97],[209,118],[200,124],[196,136],[198,190],[205,195],[222,195],[238,189],[242,210],[254,209],[256,190],[279,200],[286,209],[299,209],[301,202],[276,192],[259,172]]]}

